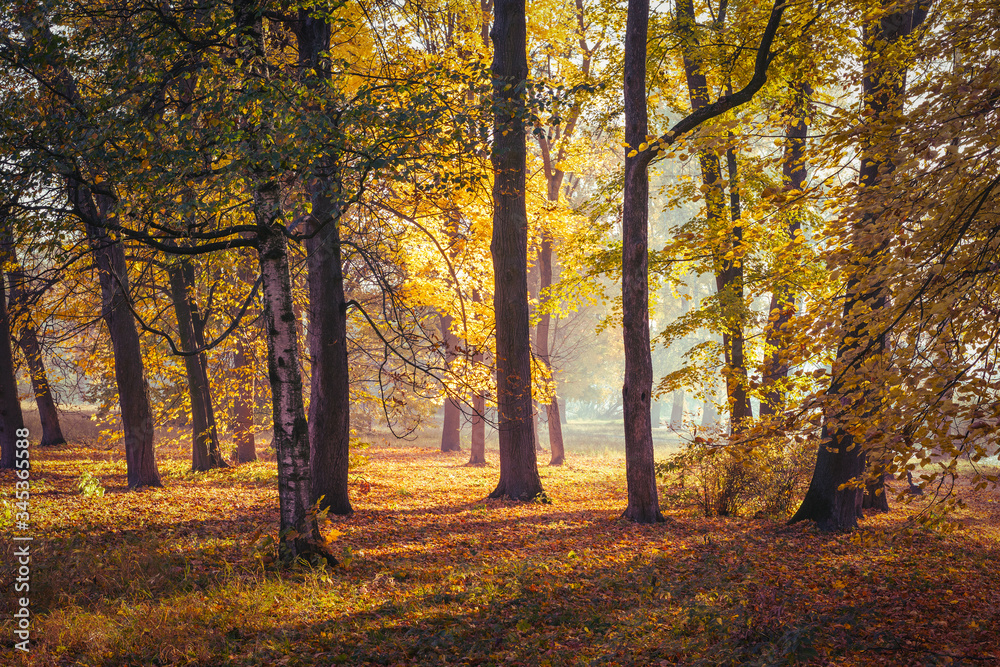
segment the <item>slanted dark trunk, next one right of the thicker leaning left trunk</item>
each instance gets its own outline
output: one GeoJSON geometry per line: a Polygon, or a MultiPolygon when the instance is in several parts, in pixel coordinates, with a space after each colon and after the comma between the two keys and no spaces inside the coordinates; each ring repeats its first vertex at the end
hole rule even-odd
{"type": "MultiPolygon", "coordinates": [[[[195,333],[195,307],[191,298],[191,290],[194,288],[192,271],[190,262],[186,260],[175,262],[167,268],[174,313],[177,316],[177,334],[181,348],[186,351],[201,347],[198,342],[200,336],[195,333]]],[[[206,364],[203,352],[184,356],[188,393],[191,397],[191,469],[196,471],[228,467],[219,450],[219,434],[212,409],[212,390],[206,364]]]]}

